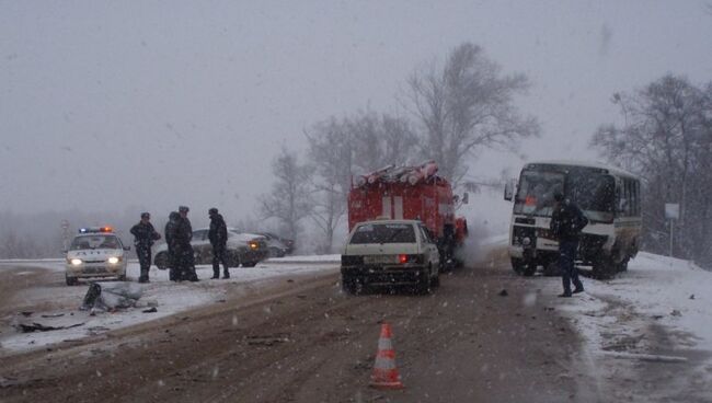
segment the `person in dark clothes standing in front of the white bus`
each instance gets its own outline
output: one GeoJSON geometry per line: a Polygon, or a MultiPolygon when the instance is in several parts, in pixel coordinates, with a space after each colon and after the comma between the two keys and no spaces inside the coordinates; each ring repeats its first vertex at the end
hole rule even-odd
{"type": "Polygon", "coordinates": [[[559,267],[564,292],[559,297],[569,298],[572,293],[584,291],[574,261],[578,249],[581,231],[588,224],[584,212],[573,202],[565,199],[561,192],[554,194],[554,210],[551,216],[551,232],[559,241],[559,267]],[[571,283],[574,290],[571,291],[571,283]]]}

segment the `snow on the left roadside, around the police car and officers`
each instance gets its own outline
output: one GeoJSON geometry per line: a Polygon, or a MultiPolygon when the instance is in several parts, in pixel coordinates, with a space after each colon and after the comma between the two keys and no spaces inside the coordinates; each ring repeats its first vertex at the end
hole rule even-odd
{"type": "MultiPolygon", "coordinates": [[[[21,352],[41,348],[53,343],[78,339],[90,335],[105,333],[110,330],[126,327],[159,318],[168,316],[179,312],[187,311],[200,306],[216,303],[227,297],[228,284],[254,284],[279,276],[303,275],[321,270],[336,270],[340,255],[328,256],[288,256],[263,262],[255,267],[231,268],[230,279],[208,279],[213,276],[213,267],[199,265],[196,267],[198,283],[183,281],[180,284],[170,281],[168,270],[159,270],[151,267],[149,277],[151,283],[140,285],[143,290],[138,306],[133,309],[119,310],[113,313],[99,312],[90,315],[90,312],[80,311],[83,297],[88,287],[80,283],[76,287],[51,286],[36,287],[23,291],[16,296],[19,303],[38,307],[54,307],[42,312],[33,312],[32,315],[15,318],[15,322],[31,324],[41,323],[45,326],[68,327],[49,332],[19,333],[7,332],[0,334],[0,352],[21,352]],[[145,313],[148,304],[157,304],[157,312],[145,313]],[[71,307],[71,308],[67,308],[71,307]],[[70,327],[77,325],[74,327],[70,327]]],[[[3,262],[7,263],[7,262],[3,262]]],[[[64,272],[64,261],[13,261],[11,265],[2,267],[43,267],[56,272],[64,272]]],[[[2,269],[2,268],[0,268],[2,269]]],[[[15,275],[25,276],[32,272],[18,272],[15,275]]],[[[136,281],[139,276],[137,263],[129,263],[127,268],[129,280],[136,281]]],[[[64,284],[64,276],[61,277],[64,284]]],[[[101,283],[100,283],[101,284],[101,283]]],[[[15,323],[16,324],[16,323],[15,323]]]]}

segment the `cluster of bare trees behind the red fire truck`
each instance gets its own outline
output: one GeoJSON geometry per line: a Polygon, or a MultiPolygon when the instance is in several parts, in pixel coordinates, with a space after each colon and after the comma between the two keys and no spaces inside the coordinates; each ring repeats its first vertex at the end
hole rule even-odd
{"type": "Polygon", "coordinates": [[[356,112],[331,116],[305,130],[305,156],[283,148],[274,159],[275,182],[260,197],[264,218],[276,219],[297,238],[310,222],[321,234],[317,252],[332,251],[334,231],[346,215],[352,177],[390,164],[435,160],[453,187],[476,191],[483,181],[468,163],[486,149],[514,150],[540,133],[539,123],[515,106],[529,80],[505,74],[478,45],[463,43],[445,61],[430,62],[405,79],[397,95],[402,112],[356,112]]]}

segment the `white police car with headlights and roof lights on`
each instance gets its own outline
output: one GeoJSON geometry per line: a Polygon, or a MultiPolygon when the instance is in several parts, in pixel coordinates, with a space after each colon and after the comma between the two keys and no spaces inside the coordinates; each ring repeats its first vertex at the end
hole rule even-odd
{"type": "Polygon", "coordinates": [[[116,277],[125,280],[128,250],[130,247],[124,246],[111,227],[80,229],[67,251],[67,285],[76,285],[79,278],[116,277]]]}

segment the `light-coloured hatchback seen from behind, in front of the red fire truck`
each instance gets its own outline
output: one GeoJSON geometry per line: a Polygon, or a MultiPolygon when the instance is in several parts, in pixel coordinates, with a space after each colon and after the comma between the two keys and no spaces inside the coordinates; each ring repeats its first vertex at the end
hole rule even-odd
{"type": "Polygon", "coordinates": [[[359,222],[341,256],[342,287],[357,293],[368,286],[414,286],[427,293],[439,285],[440,254],[417,220],[359,222]]]}

